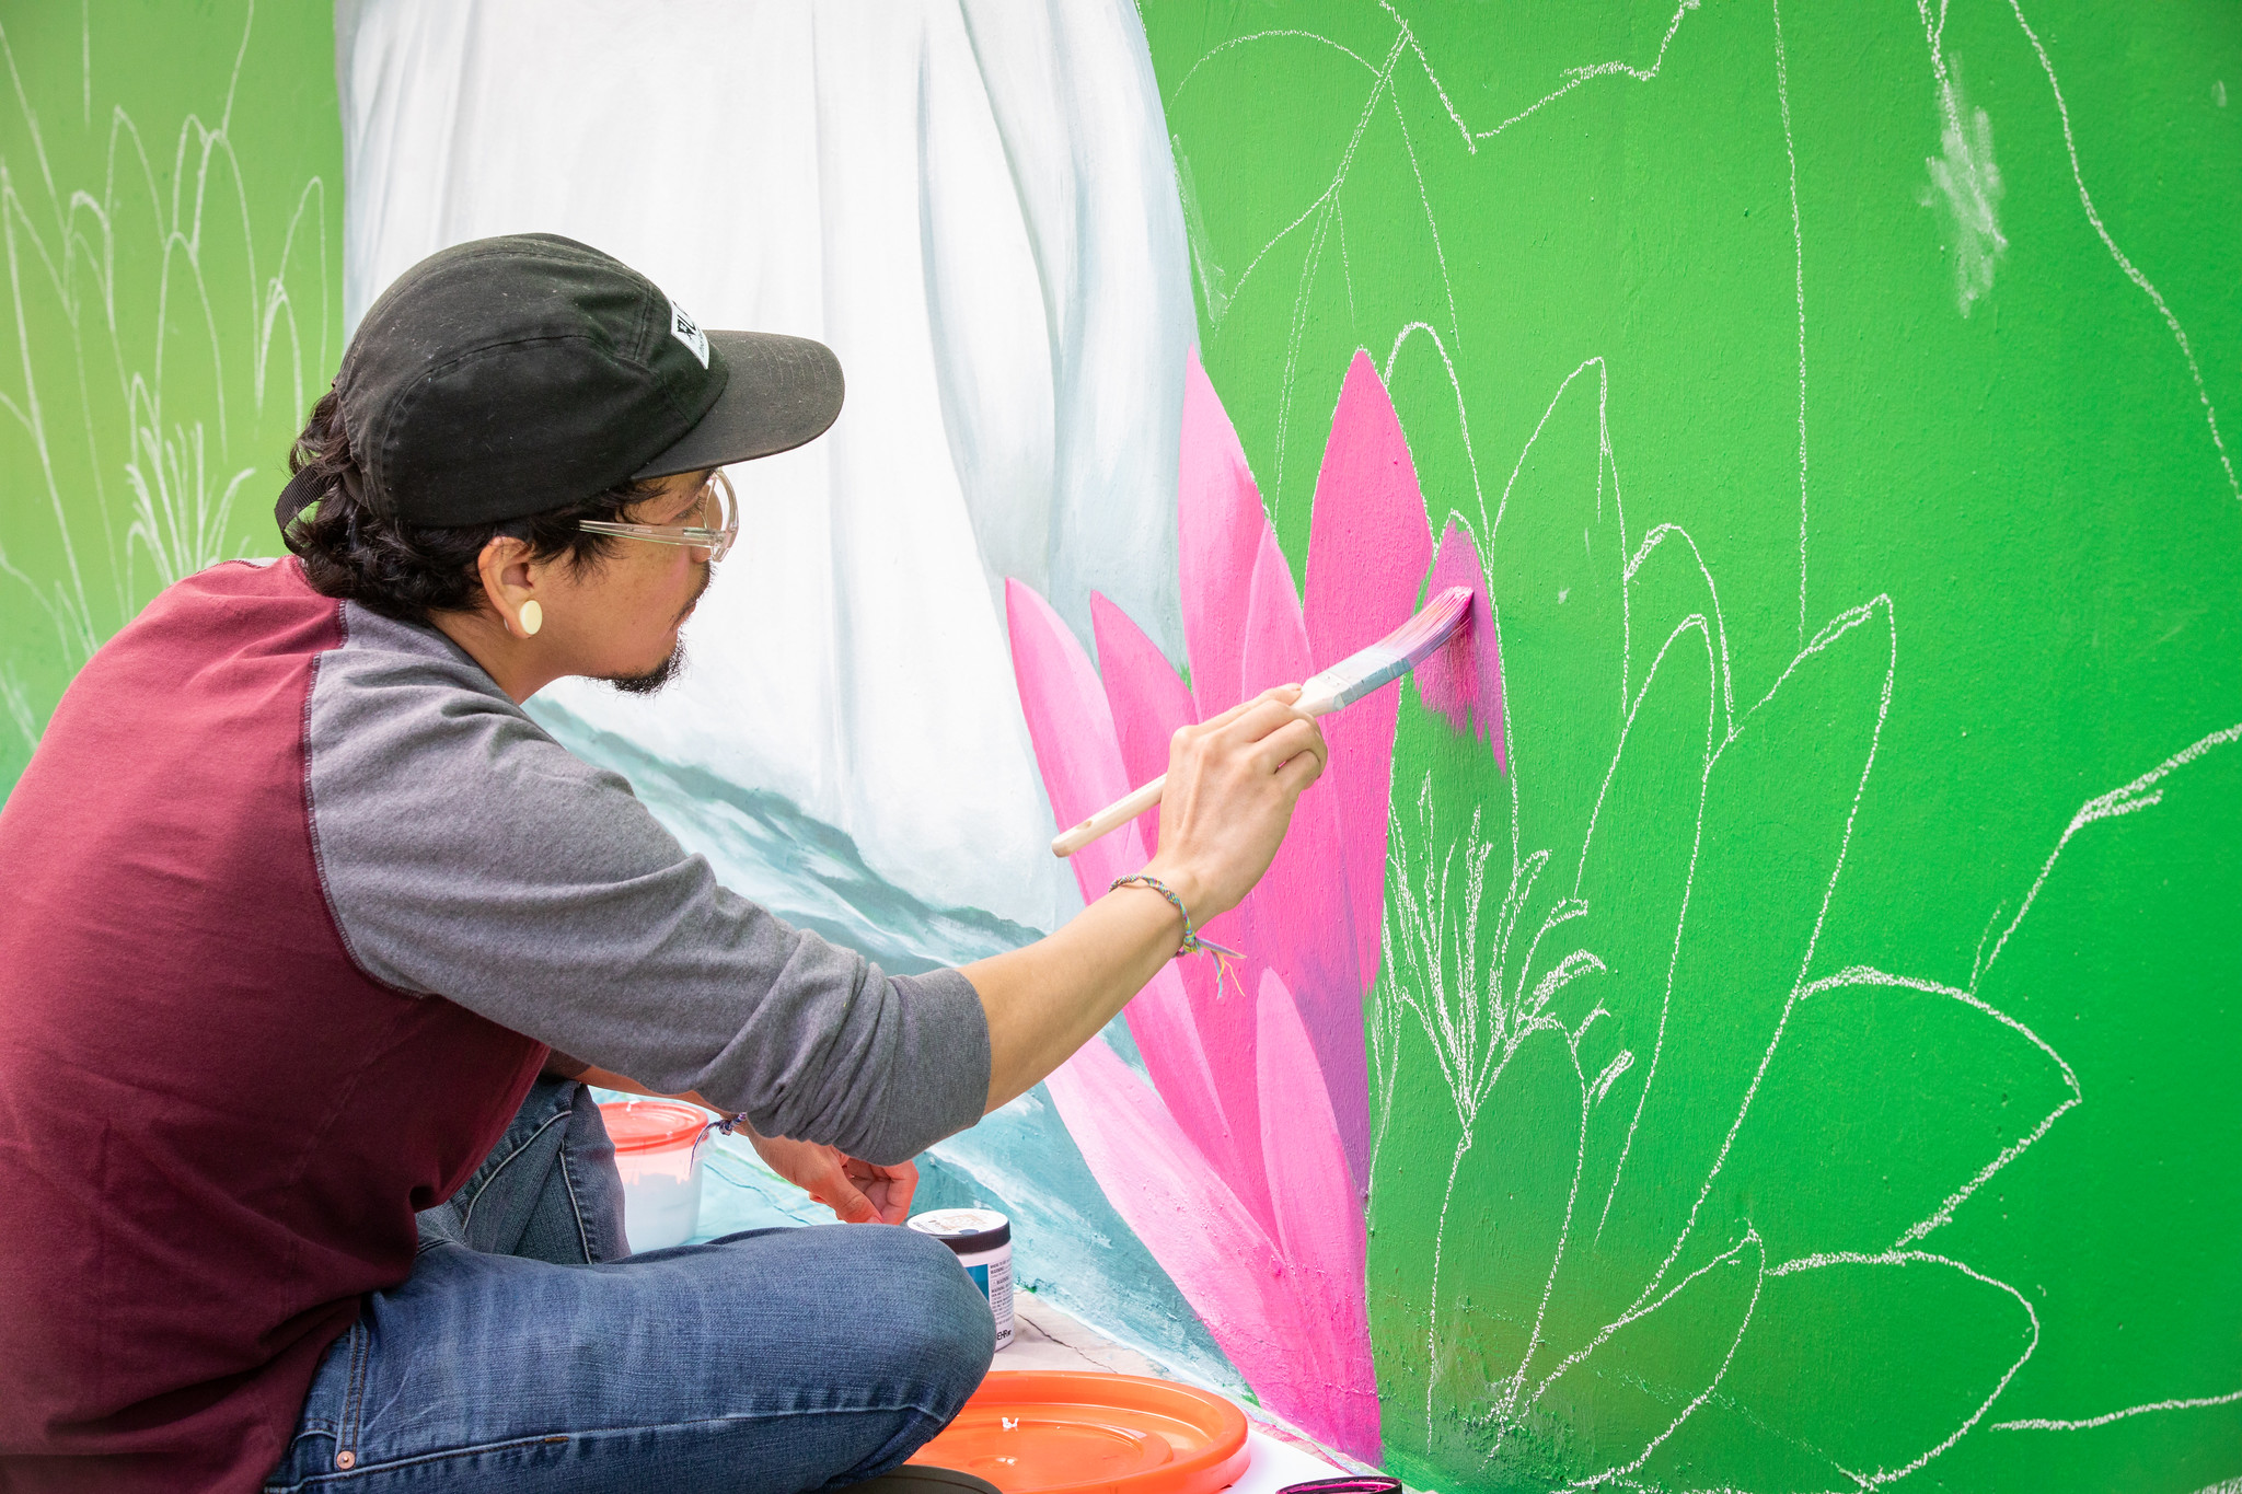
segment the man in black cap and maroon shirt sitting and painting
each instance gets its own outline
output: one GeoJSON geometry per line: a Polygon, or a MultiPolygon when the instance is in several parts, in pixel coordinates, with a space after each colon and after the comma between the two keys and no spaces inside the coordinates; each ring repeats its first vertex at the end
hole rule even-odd
{"type": "Polygon", "coordinates": [[[583,244],[448,249],[298,441],[296,558],[85,667],[0,809],[9,1487],[816,1490],[971,1393],[986,1308],[908,1230],[628,1257],[572,1075],[740,1111],[901,1218],[912,1154],[1244,896],[1323,739],[1287,692],[1186,728],[1148,880],[964,970],[720,887],[520,701],[659,685],[722,468],[839,408],[821,345],[702,332],[583,244]]]}

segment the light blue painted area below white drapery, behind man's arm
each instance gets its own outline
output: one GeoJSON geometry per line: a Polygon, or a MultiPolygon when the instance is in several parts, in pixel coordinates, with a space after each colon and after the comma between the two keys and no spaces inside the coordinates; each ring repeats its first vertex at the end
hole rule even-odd
{"type": "MultiPolygon", "coordinates": [[[[531,701],[529,710],[572,753],[628,777],[655,818],[688,851],[706,856],[726,887],[886,970],[962,965],[1040,936],[982,909],[928,907],[872,871],[843,831],[782,795],[666,764],[563,706],[531,701]]],[[[1119,1017],[1105,1037],[1123,1062],[1143,1071],[1119,1017]]],[[[1018,1286],[1182,1375],[1244,1393],[1175,1281],[1105,1201],[1040,1084],[919,1156],[912,1210],[942,1207],[1002,1212],[1011,1218],[1018,1286]]],[[[832,1212],[765,1167],[744,1140],[713,1138],[693,1239],[821,1223],[834,1223],[832,1212]]]]}

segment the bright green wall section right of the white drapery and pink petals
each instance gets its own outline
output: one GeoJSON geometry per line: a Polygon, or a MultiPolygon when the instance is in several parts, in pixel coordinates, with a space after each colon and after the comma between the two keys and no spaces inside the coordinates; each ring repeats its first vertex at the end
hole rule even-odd
{"type": "Polygon", "coordinates": [[[1368,1012],[1428,1487],[2242,1474],[2242,22],[1146,0],[1298,571],[1368,349],[1509,775],[1403,699],[1368,1012]]]}

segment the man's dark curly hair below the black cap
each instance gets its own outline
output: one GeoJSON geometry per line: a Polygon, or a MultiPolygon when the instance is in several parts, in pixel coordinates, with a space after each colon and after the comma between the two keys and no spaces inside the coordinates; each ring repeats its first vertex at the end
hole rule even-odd
{"type": "Polygon", "coordinates": [[[361,603],[401,623],[426,623],[430,611],[482,607],[475,562],[498,535],[525,540],[536,560],[565,555],[578,569],[599,564],[612,540],[585,533],[576,522],[628,520],[630,506],[657,491],[650,482],[623,482],[522,520],[460,529],[386,520],[365,504],[365,477],[350,450],[334,390],[312,408],[312,419],[289,448],[287,470],[312,473],[318,493],[316,506],[280,531],[282,542],[303,560],[305,580],[323,596],[361,603]]]}

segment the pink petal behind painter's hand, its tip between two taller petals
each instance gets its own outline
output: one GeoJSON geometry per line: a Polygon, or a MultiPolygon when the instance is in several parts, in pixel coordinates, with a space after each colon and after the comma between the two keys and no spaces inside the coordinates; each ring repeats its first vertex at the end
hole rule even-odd
{"type": "MultiPolygon", "coordinates": [[[[1291,567],[1273,533],[1262,535],[1247,618],[1247,690],[1314,674],[1307,625],[1291,589],[1291,567]]],[[[1271,965],[1300,1001],[1316,1044],[1321,1075],[1338,1107],[1347,1167],[1370,1180],[1370,1086],[1363,1068],[1365,981],[1347,896],[1338,802],[1321,784],[1300,795],[1285,844],[1269,874],[1240,907],[1240,936],[1253,959],[1271,965]]],[[[1231,1111],[1231,1124],[1238,1113],[1231,1111]]]]}

